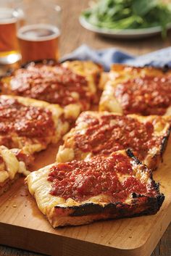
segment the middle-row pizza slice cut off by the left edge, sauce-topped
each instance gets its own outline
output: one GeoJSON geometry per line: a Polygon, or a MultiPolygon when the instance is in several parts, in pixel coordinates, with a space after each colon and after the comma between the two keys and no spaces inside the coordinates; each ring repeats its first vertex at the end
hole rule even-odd
{"type": "Polygon", "coordinates": [[[57,104],[20,96],[0,96],[0,145],[33,154],[57,143],[69,124],[57,104]]]}

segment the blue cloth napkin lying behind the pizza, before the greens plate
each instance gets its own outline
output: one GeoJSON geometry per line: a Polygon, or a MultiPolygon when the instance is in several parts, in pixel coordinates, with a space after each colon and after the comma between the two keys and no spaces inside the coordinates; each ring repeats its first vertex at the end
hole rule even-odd
{"type": "Polygon", "coordinates": [[[95,50],[83,44],[75,51],[72,51],[72,53],[65,55],[61,61],[67,59],[91,59],[93,62],[103,65],[106,71],[109,71],[112,63],[122,63],[139,67],[144,65],[152,65],[154,67],[168,65],[171,67],[171,47],[135,57],[115,48],[95,50]]]}

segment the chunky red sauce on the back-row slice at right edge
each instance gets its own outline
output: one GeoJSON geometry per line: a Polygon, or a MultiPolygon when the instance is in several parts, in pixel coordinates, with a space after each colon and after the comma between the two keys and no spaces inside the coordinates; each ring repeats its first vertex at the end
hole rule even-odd
{"type": "Polygon", "coordinates": [[[127,80],[117,85],[114,96],[124,114],[164,115],[171,105],[171,75],[127,80]]]}

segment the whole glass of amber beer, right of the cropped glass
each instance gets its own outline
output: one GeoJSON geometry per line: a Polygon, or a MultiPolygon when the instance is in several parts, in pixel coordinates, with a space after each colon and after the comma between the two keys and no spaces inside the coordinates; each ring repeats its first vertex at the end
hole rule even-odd
{"type": "Polygon", "coordinates": [[[18,12],[22,17],[17,22],[22,63],[58,59],[61,8],[56,2],[36,0],[22,3],[18,12]]]}

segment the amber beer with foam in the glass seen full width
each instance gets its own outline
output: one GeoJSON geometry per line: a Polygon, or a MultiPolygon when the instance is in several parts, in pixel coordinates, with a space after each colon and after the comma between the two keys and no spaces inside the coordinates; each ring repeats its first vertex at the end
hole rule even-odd
{"type": "Polygon", "coordinates": [[[59,29],[54,25],[25,25],[18,30],[22,62],[58,59],[59,29]]]}

